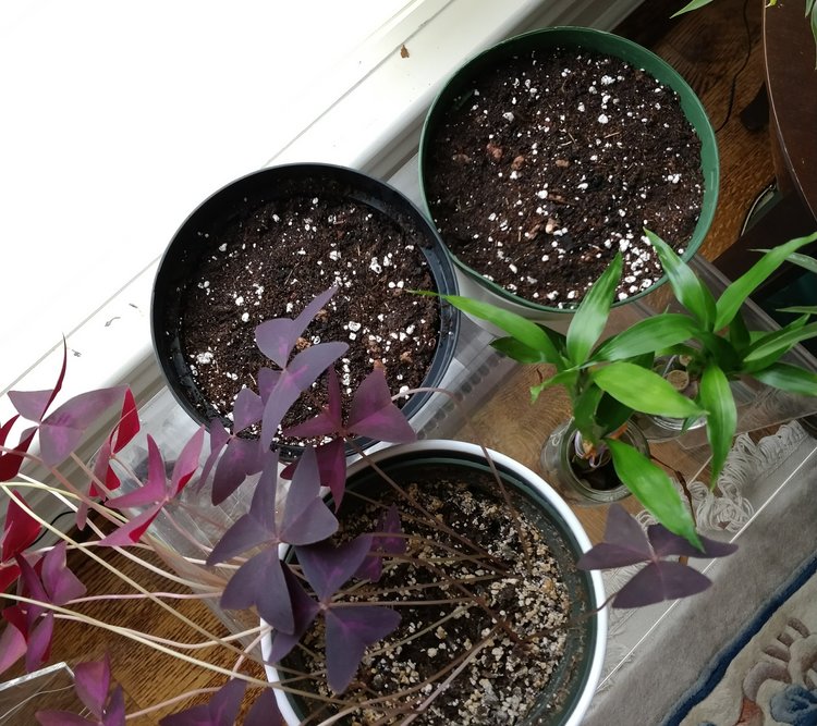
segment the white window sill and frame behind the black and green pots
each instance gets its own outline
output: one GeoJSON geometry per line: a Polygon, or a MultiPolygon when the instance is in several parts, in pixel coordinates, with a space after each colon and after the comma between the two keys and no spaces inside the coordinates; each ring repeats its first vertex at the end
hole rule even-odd
{"type": "MultiPolygon", "coordinates": [[[[415,152],[425,112],[444,79],[465,60],[516,33],[551,25],[610,29],[643,0],[413,0],[331,75],[333,100],[259,167],[322,161],[389,179],[415,152]],[[405,53],[401,48],[405,47],[405,53]]],[[[353,5],[354,3],[352,3],[353,5]]],[[[245,170],[252,171],[251,169],[245,170]]],[[[227,183],[231,180],[222,180],[227,183]]],[[[214,189],[215,190],[215,189],[214,189]]],[[[185,210],[180,216],[183,221],[185,210]]],[[[150,297],[158,257],[82,322],[65,331],[69,371],[61,398],[127,383],[144,403],[163,381],[150,343],[150,297]]],[[[8,305],[8,302],[7,302],[8,305]]],[[[3,348],[13,353],[13,342],[3,348]]],[[[25,352],[31,354],[32,352],[25,352]]],[[[7,353],[8,355],[8,353],[7,353]]],[[[62,342],[42,345],[8,390],[53,385],[62,342]]],[[[26,356],[21,355],[21,361],[26,356]]],[[[0,421],[12,414],[0,396],[0,421]]],[[[110,423],[106,423],[110,426],[110,423]]],[[[81,452],[82,453],[82,452],[81,452]]],[[[90,451],[88,451],[90,453],[90,451]]],[[[42,503],[42,507],[46,504],[42,503]]],[[[48,510],[42,512],[44,516],[48,510]]],[[[2,519],[2,513],[0,513],[2,519]]]]}

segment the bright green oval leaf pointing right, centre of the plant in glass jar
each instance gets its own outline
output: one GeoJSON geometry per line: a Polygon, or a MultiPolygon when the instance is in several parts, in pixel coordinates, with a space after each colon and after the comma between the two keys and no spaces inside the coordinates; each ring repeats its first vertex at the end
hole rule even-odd
{"type": "Polygon", "coordinates": [[[702,416],[705,413],[658,373],[641,366],[613,362],[594,369],[590,376],[596,385],[633,410],[672,418],[702,416]]]}

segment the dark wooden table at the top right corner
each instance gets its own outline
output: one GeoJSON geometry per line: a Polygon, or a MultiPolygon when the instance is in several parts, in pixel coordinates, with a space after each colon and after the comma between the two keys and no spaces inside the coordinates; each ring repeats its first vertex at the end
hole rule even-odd
{"type": "MultiPolygon", "coordinates": [[[[732,280],[757,259],[749,250],[817,230],[817,70],[815,40],[803,2],[779,0],[777,5],[766,7],[763,35],[778,195],[756,223],[715,260],[732,280]]],[[[778,290],[798,272],[796,268],[781,269],[760,294],[778,290]]]]}

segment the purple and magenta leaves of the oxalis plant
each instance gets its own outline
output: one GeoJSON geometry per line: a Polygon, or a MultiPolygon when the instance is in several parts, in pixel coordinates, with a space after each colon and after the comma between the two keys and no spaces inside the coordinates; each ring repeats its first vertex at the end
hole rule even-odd
{"type": "MultiPolygon", "coordinates": [[[[174,503],[199,471],[198,490],[211,482],[214,504],[223,502],[240,487],[256,480],[252,502],[206,557],[206,566],[230,565],[232,575],[221,591],[227,610],[255,608],[272,629],[270,663],[284,659],[317,623],[324,632],[326,679],[336,694],[343,693],[371,644],[400,624],[397,611],[381,603],[352,602],[344,591],[362,581],[377,582],[390,557],[407,550],[400,513],[385,508],[374,531],[340,544],[331,538],[339,530],[338,516],[345,495],[347,442],[361,438],[389,442],[411,441],[415,433],[392,401],[383,371],[375,368],[352,394],[349,414],[333,365],[346,350],[344,343],[320,343],[296,350],[310,320],[327,305],[336,288],[312,300],[294,319],[277,319],[256,329],[259,349],[270,359],[256,378],[257,391],[243,389],[234,401],[230,426],[214,420],[209,451],[203,454],[205,431],[197,430],[180,455],[167,463],[157,442],[147,436],[147,473],[144,481],[133,472],[136,487],[113,495],[120,487],[117,454],[139,431],[133,395],[125,387],[105,389],[74,396],[51,410],[65,376],[66,355],[53,389],[12,392],[16,415],[0,424],[0,481],[11,481],[26,458],[56,470],[71,457],[87,429],[107,410],[119,406],[119,418],[105,438],[87,479],[73,488],[77,525],[86,526],[88,512],[97,508],[115,520],[107,534],[98,532],[98,546],[151,546],[148,530],[156,518],[170,514],[174,503]],[[272,367],[275,366],[275,368],[272,367]],[[327,404],[313,419],[281,430],[292,404],[318,379],[327,377],[327,404]],[[29,421],[15,445],[8,443],[19,421],[29,421]],[[276,442],[301,439],[314,444],[301,448],[295,460],[281,469],[276,442]],[[39,453],[29,454],[39,439],[39,453]],[[168,473],[170,465],[172,470],[168,473]],[[326,488],[326,489],[325,489],[326,488]],[[326,491],[331,493],[330,508],[326,491]],[[131,514],[134,509],[137,514],[131,514]],[[122,514],[122,517],[118,513],[122,514]],[[113,515],[113,516],[110,516],[113,515]]],[[[120,463],[121,464],[121,463],[120,463]]],[[[24,659],[26,669],[40,667],[49,655],[56,613],[81,602],[85,587],[71,573],[65,543],[35,551],[41,532],[25,499],[7,490],[9,504],[0,549],[0,586],[15,587],[16,602],[2,611],[5,628],[0,633],[0,673],[24,659]]],[[[96,531],[96,530],[95,530],[96,531]]],[[[586,553],[583,568],[620,567],[646,563],[613,599],[618,607],[633,607],[699,592],[709,581],[670,556],[722,556],[733,545],[700,538],[703,551],[660,526],[646,533],[620,507],[612,507],[606,540],[586,553]]],[[[243,660],[243,659],[242,659],[243,660]]],[[[111,689],[110,664],[102,661],[75,668],[76,690],[88,717],[64,712],[40,712],[51,724],[119,726],[125,719],[122,689],[111,689]]],[[[246,684],[239,666],[233,677],[205,704],[164,717],[162,726],[225,726],[236,722],[246,684]]],[[[266,690],[244,723],[248,726],[280,719],[275,697],[266,690]]]]}

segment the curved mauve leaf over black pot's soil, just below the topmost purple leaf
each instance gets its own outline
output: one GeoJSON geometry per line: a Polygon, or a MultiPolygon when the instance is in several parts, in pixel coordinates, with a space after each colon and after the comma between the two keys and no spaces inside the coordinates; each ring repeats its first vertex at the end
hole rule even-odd
{"type": "Polygon", "coordinates": [[[278,427],[290,406],[347,349],[345,343],[318,343],[292,359],[289,368],[281,372],[264,407],[261,445],[265,448],[270,446],[278,434],[278,427]]]}

